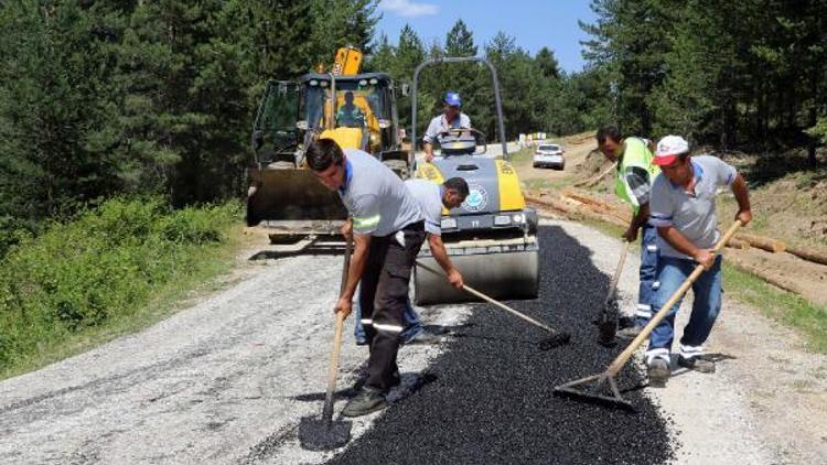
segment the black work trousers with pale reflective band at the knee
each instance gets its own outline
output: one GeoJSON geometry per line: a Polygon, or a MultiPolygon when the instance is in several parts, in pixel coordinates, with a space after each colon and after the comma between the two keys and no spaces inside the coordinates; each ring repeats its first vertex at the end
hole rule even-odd
{"type": "Polygon", "coordinates": [[[365,382],[368,389],[386,393],[393,387],[410,273],[423,241],[422,221],[370,239],[359,286],[362,324],[370,347],[365,382]]]}

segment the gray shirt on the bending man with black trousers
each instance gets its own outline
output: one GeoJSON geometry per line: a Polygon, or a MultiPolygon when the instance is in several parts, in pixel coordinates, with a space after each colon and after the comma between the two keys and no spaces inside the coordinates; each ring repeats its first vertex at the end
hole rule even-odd
{"type": "Polygon", "coordinates": [[[354,234],[388,236],[423,219],[416,198],[389,167],[362,150],[344,153],[345,185],[339,195],[353,216],[354,234]]]}

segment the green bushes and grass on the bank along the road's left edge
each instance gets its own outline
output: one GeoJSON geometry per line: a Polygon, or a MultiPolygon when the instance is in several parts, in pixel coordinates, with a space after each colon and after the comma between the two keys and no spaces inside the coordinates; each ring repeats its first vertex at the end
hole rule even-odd
{"type": "Polygon", "coordinates": [[[239,206],[172,210],[112,199],[12,248],[0,262],[0,379],[43,367],[176,310],[230,270],[239,206]]]}

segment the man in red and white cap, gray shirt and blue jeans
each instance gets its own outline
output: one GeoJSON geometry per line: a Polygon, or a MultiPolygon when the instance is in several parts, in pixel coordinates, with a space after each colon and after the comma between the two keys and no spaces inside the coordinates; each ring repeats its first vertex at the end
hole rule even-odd
{"type": "MultiPolygon", "coordinates": [[[[692,284],[692,313],[680,338],[678,365],[713,372],[715,361],[704,353],[702,345],[721,310],[721,256],[711,251],[721,236],[715,201],[719,187],[730,187],[738,202],[735,219],[745,226],[752,219],[747,182],[718,158],[689,156],[689,144],[678,136],[667,136],[657,143],[655,163],[662,173],[652,186],[649,223],[657,228],[660,257],[652,311],[658,312],[695,267],[702,264],[706,271],[692,284]]],[[[652,332],[646,365],[653,386],[663,386],[669,379],[679,306],[680,301],[652,332]]]]}

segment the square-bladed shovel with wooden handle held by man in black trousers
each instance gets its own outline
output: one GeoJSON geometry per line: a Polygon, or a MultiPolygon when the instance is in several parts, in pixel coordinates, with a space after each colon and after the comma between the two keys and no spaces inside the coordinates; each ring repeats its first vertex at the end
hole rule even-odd
{"type": "MultiPolygon", "coordinates": [[[[351,253],[353,251],[353,237],[347,238],[345,247],[344,269],[342,270],[342,285],[340,295],[347,284],[347,271],[351,268],[351,253]]],[[[327,366],[327,392],[324,397],[322,418],[302,418],[299,422],[299,442],[301,446],[310,451],[330,451],[347,444],[351,440],[350,421],[333,421],[333,393],[336,391],[336,372],[339,371],[339,352],[342,348],[342,327],[345,315],[336,313],[336,331],[333,336],[333,350],[331,352],[327,366]]]]}

